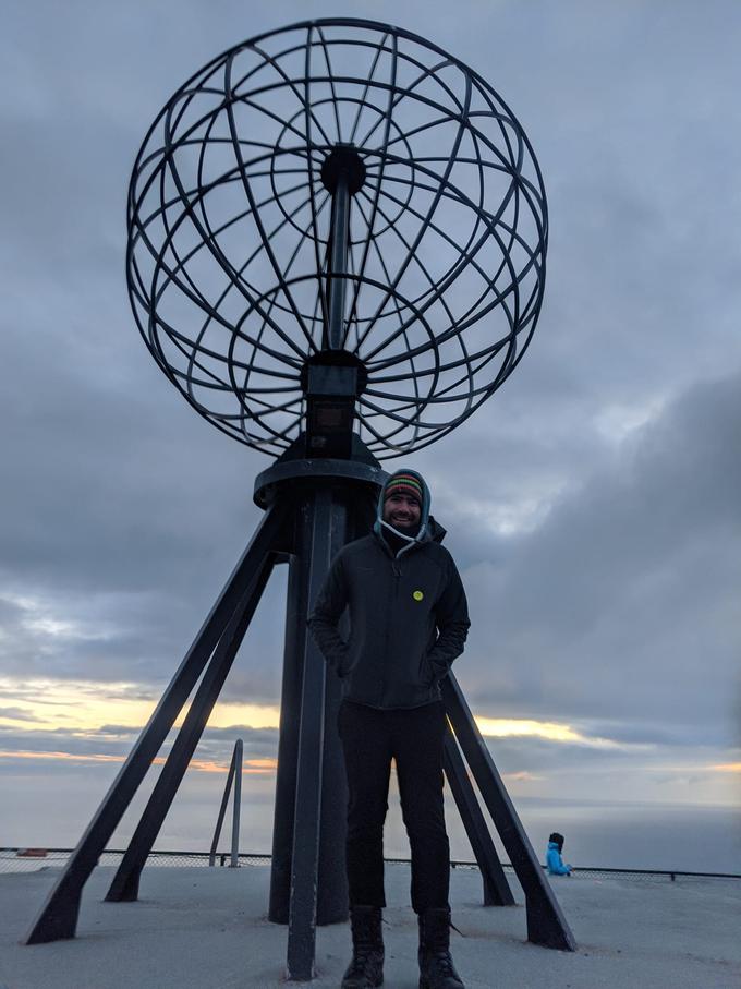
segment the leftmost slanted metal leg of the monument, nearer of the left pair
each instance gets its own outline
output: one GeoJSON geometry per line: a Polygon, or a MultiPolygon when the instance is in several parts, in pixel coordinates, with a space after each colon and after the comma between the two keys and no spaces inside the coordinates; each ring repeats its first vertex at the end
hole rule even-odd
{"type": "Polygon", "coordinates": [[[25,938],[26,944],[74,937],[83,887],[203,673],[244,593],[245,584],[254,570],[263,566],[266,554],[275,548],[283,524],[284,512],[281,509],[270,508],[263,517],[149,722],[49,893],[25,938]]]}

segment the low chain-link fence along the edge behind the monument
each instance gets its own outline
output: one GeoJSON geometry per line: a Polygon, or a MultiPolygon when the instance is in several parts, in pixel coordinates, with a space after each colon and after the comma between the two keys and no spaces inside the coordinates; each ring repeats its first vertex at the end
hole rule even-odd
{"type": "MultiPolygon", "coordinates": [[[[63,866],[72,848],[0,848],[0,872],[33,872],[39,869],[59,868],[63,866]]],[[[123,856],[122,851],[104,852],[98,865],[118,866],[123,856]]],[[[231,860],[231,853],[217,852],[216,867],[227,867],[231,860]]],[[[262,853],[244,853],[239,856],[240,866],[269,866],[270,856],[262,853]]],[[[409,866],[408,858],[387,858],[387,865],[409,866]]],[[[182,867],[196,866],[208,868],[208,852],[151,852],[147,858],[148,866],[182,867]]],[[[453,869],[474,869],[478,866],[474,861],[452,861],[453,869]]],[[[505,872],[514,873],[509,863],[503,864],[505,872]]],[[[573,869],[578,877],[598,877],[600,879],[635,879],[635,880],[665,880],[673,882],[677,879],[741,879],[738,872],[685,872],[668,869],[610,869],[598,866],[573,869]]]]}

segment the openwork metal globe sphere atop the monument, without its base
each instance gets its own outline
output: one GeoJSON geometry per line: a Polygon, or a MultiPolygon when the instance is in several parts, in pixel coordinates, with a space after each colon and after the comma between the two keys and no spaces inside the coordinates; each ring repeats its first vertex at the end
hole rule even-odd
{"type": "Polygon", "coordinates": [[[196,73],[139,152],[129,233],[155,360],[269,454],[301,433],[326,351],[360,371],[373,454],[439,439],[514,370],[543,298],[545,192],[522,128],[475,72],[385,25],[295,25],[196,73]]]}

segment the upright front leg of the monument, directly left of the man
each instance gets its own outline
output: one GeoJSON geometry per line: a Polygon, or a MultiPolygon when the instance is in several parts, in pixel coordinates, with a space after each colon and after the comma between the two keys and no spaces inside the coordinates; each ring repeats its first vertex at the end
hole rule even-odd
{"type": "MultiPolygon", "coordinates": [[[[312,545],[307,557],[309,602],[316,600],[329,569],[332,531],[341,530],[344,523],[344,508],[333,504],[331,491],[317,491],[313,500],[312,545]]],[[[306,631],[287,952],[289,978],[297,981],[308,981],[314,975],[325,683],[324,658],[306,631]]]]}

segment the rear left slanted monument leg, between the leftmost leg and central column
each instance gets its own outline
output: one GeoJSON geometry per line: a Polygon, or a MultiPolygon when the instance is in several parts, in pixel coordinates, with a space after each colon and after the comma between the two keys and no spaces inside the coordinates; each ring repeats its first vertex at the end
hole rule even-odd
{"type": "Polygon", "coordinates": [[[162,822],[189,767],[195,747],[214,710],[247,626],[272,572],[274,557],[268,555],[262,568],[250,581],[250,588],[219,639],[210,663],[191,702],[183,725],[159,774],[142,819],[132,835],[129,848],[118,868],[106,900],[133,901],[138,896],[142,869],[157,840],[162,822]]]}

